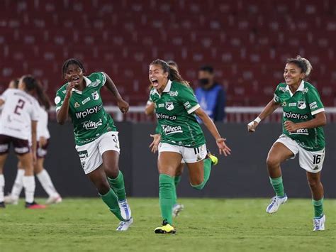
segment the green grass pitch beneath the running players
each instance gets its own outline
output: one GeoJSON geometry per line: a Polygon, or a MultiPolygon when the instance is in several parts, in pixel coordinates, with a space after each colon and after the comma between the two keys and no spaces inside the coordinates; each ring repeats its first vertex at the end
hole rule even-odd
{"type": "MultiPolygon", "coordinates": [[[[100,199],[65,199],[47,209],[0,209],[0,251],[336,251],[336,200],[325,200],[326,230],[313,232],[309,199],[289,199],[266,214],[269,199],[179,199],[177,234],[154,234],[158,199],[130,198],[134,224],[118,220],[100,199]]],[[[42,199],[39,202],[43,202],[42,199]]]]}

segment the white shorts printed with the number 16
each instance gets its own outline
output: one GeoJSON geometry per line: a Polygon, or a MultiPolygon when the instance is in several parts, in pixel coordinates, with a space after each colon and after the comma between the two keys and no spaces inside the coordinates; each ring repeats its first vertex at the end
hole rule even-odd
{"type": "Polygon", "coordinates": [[[322,170],[323,162],[325,160],[325,148],[318,151],[305,150],[299,146],[296,141],[293,141],[293,139],[284,134],[279,136],[276,143],[282,143],[284,146],[289,148],[289,150],[291,150],[294,154],[293,158],[295,158],[296,154],[298,154],[300,167],[305,169],[307,172],[318,173],[322,170]]]}

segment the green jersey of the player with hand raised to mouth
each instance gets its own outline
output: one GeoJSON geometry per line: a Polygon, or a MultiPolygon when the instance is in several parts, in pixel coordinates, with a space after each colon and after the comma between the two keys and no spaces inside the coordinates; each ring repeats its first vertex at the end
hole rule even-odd
{"type": "MultiPolygon", "coordinates": [[[[69,101],[69,116],[74,124],[74,140],[77,146],[94,141],[103,133],[116,131],[113,119],[103,109],[100,90],[106,82],[103,72],[94,72],[85,77],[83,91],[74,89],[69,101]]],[[[57,90],[55,97],[56,111],[61,108],[69,82],[57,90]]]]}

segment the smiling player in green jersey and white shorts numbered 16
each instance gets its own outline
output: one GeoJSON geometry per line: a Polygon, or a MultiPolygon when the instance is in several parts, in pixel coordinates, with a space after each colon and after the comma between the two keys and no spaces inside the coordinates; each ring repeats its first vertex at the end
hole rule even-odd
{"type": "Polygon", "coordinates": [[[282,106],[283,134],[275,141],[267,157],[269,180],[276,196],[271,199],[266,212],[275,213],[280,205],[287,201],[280,165],[298,154],[300,166],[306,170],[313,197],[313,231],[320,231],[325,229],[323,185],[320,176],[325,158],[325,136],[322,126],[325,126],[327,120],[318,90],[305,81],[311,70],[310,62],[301,56],[287,60],[284,70],[285,83],[276,87],[274,99],[247,125],[247,129],[254,132],[260,121],[282,106]]]}

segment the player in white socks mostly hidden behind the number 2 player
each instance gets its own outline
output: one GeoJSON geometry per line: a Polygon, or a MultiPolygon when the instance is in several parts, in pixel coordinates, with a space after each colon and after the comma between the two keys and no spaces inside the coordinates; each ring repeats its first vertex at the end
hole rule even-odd
{"type": "MultiPolygon", "coordinates": [[[[38,177],[43,189],[49,196],[46,204],[54,204],[62,202],[62,197],[56,191],[49,173],[45,170],[43,163],[45,155],[47,155],[47,146],[49,143],[50,133],[47,128],[48,114],[47,110],[50,109],[50,100],[45,94],[43,87],[38,83],[38,89],[36,89],[36,96],[40,103],[38,111],[38,126],[37,126],[37,161],[34,164],[34,174],[38,177]]],[[[31,141],[31,140],[30,140],[31,141]]],[[[18,162],[18,172],[16,173],[16,179],[14,181],[11,194],[4,197],[6,204],[18,204],[18,198],[23,188],[23,165],[18,162]]]]}

